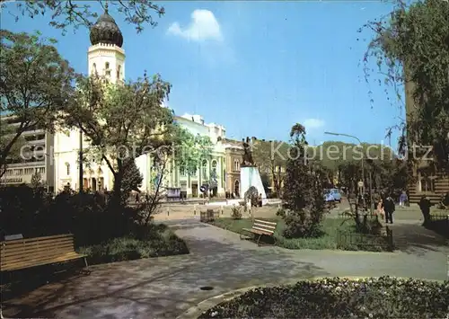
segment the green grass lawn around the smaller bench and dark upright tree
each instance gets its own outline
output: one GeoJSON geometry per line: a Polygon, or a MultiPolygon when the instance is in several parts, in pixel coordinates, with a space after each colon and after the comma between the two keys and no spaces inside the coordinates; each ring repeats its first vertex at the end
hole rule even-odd
{"type": "MultiPolygon", "coordinates": [[[[355,222],[352,219],[341,218],[327,218],[322,222],[322,231],[324,235],[318,238],[286,238],[283,231],[285,223],[282,218],[264,218],[269,221],[277,222],[277,229],[275,232],[277,246],[287,249],[337,249],[337,231],[344,231],[348,233],[355,232],[355,222]]],[[[211,222],[212,225],[224,228],[237,234],[248,235],[246,232],[242,232],[242,228],[251,228],[251,219],[233,219],[233,218],[218,218],[211,222]]],[[[373,247],[372,247],[373,248],[373,247]]],[[[379,251],[379,247],[373,249],[355,247],[354,245],[348,245],[348,247],[340,247],[345,250],[374,250],[379,251]]]]}

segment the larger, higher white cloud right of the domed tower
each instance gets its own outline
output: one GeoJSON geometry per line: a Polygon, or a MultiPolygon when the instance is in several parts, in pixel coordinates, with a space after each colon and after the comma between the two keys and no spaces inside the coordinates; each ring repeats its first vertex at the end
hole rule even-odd
{"type": "Polygon", "coordinates": [[[180,23],[173,22],[168,33],[194,41],[223,40],[220,24],[216,21],[214,13],[197,9],[190,17],[192,21],[188,27],[181,28],[180,23]]]}

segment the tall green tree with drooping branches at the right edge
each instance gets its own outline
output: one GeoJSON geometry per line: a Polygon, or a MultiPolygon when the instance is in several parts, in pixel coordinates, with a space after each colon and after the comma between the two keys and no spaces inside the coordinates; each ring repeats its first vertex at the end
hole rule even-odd
{"type": "Polygon", "coordinates": [[[366,80],[372,75],[369,58],[374,58],[384,76],[379,84],[392,85],[398,99],[405,84],[408,110],[407,122],[398,126],[401,152],[410,152],[413,144],[433,146],[440,167],[448,167],[449,160],[448,16],[445,1],[409,6],[397,1],[389,16],[365,25],[374,31],[364,58],[366,80]]]}

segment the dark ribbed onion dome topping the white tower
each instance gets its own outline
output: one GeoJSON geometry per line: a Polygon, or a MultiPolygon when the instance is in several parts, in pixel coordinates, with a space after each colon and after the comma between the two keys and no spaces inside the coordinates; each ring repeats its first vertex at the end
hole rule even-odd
{"type": "Polygon", "coordinates": [[[114,19],[108,14],[108,9],[98,18],[97,22],[91,27],[92,45],[99,43],[115,44],[120,47],[123,45],[123,35],[114,19]]]}

